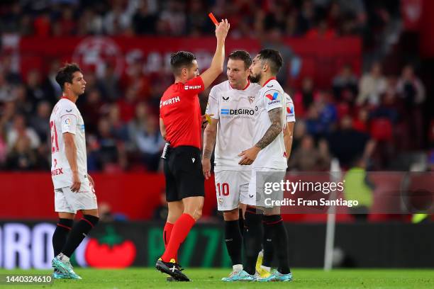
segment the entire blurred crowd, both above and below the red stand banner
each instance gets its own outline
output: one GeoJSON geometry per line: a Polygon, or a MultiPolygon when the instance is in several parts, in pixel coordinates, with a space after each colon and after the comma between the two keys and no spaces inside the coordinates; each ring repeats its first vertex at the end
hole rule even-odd
{"type": "MultiPolygon", "coordinates": [[[[381,34],[367,31],[385,29],[399,14],[390,2],[21,0],[0,4],[0,27],[3,33],[40,37],[197,36],[212,33],[206,11],[213,11],[229,18],[231,37],[260,38],[269,30],[308,38],[357,34],[369,46],[381,34]]],[[[0,169],[50,169],[49,118],[61,95],[54,79],[60,65],[54,60],[47,74],[34,69],[23,77],[10,57],[1,55],[0,169]]],[[[382,62],[373,62],[358,75],[345,64],[326,89],[318,89],[310,77],[300,87],[286,83],[297,120],[289,169],[328,170],[333,157],[344,168],[362,158],[373,169],[396,169],[401,153],[434,144],[434,124],[432,133],[423,125],[425,87],[415,68],[406,65],[387,75],[383,70],[382,62]]],[[[172,76],[145,74],[137,63],[122,77],[112,67],[101,77],[94,72],[84,77],[86,93],[77,106],[86,124],[89,171],[158,171],[164,146],[158,103],[172,76]]],[[[219,81],[224,80],[222,74],[219,81]]],[[[204,106],[207,92],[201,96],[204,106]]]]}

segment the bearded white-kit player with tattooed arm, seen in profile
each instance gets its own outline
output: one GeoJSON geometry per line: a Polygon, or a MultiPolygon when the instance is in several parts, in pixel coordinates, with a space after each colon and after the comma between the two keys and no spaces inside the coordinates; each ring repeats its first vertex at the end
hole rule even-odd
{"type": "MultiPolygon", "coordinates": [[[[276,74],[282,67],[282,55],[277,50],[261,50],[250,66],[250,81],[259,83],[262,88],[255,97],[255,145],[241,152],[239,164],[252,166],[249,183],[249,196],[255,200],[264,199],[265,181],[278,182],[284,179],[287,167],[286,147],[284,144],[284,124],[286,123],[286,98],[282,86],[276,80],[276,74]],[[261,177],[259,177],[261,176],[261,177]],[[262,190],[261,190],[262,188],[262,190]]],[[[282,193],[282,192],[281,192],[282,193]]],[[[236,280],[247,281],[290,281],[292,274],[288,264],[288,236],[280,215],[280,208],[265,208],[262,219],[255,207],[247,203],[245,226],[248,228],[245,239],[245,262],[243,271],[235,276],[236,280]],[[277,252],[279,266],[277,271],[267,278],[257,279],[255,261],[260,251],[262,239],[261,220],[267,222],[272,231],[272,242],[277,252]]],[[[262,205],[262,203],[254,204],[262,205]]]]}

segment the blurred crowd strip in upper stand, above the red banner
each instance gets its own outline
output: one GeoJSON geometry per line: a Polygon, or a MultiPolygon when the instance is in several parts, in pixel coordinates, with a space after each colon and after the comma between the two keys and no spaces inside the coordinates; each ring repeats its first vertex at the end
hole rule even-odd
{"type": "Polygon", "coordinates": [[[372,38],[399,15],[399,5],[385,0],[10,0],[1,1],[0,29],[40,37],[199,36],[213,33],[207,11],[228,18],[231,37],[260,37],[277,28],[288,36],[372,38]]]}

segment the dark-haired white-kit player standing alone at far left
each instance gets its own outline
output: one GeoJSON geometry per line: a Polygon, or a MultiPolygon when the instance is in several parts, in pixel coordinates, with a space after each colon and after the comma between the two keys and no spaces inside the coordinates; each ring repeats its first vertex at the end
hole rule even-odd
{"type": "Polygon", "coordinates": [[[69,258],[99,220],[94,181],[87,174],[84,121],[75,102],[84,94],[86,81],[77,64],[66,64],[56,75],[62,88],[50,116],[51,176],[59,222],[52,236],[54,278],[81,279],[69,258]],[[74,226],[77,210],[83,217],[74,226]]]}

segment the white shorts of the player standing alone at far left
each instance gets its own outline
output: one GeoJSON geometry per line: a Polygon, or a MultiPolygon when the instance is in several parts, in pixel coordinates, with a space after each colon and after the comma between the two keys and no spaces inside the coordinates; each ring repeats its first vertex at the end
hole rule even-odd
{"type": "Polygon", "coordinates": [[[72,212],[77,210],[93,210],[98,208],[95,190],[91,184],[83,182],[78,192],[70,187],[55,189],[55,212],[72,212]]]}

